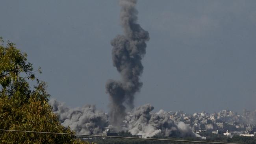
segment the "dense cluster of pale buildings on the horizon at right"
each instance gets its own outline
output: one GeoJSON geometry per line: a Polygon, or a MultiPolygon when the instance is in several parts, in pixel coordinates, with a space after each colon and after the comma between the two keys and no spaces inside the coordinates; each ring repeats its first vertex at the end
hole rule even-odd
{"type": "Polygon", "coordinates": [[[223,110],[219,113],[186,114],[183,111],[169,112],[175,123],[184,122],[196,132],[211,132],[223,135],[254,136],[256,133],[256,110],[243,110],[243,114],[223,110]]]}

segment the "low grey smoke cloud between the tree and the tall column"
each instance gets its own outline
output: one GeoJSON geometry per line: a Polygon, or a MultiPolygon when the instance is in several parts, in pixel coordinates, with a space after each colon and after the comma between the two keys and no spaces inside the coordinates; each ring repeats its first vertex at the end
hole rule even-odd
{"type": "Polygon", "coordinates": [[[78,134],[102,133],[108,126],[104,113],[97,111],[94,105],[71,109],[55,99],[51,99],[49,104],[52,106],[52,111],[59,117],[61,124],[65,127],[69,126],[78,134]]]}

